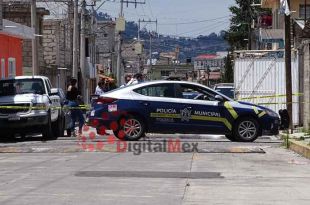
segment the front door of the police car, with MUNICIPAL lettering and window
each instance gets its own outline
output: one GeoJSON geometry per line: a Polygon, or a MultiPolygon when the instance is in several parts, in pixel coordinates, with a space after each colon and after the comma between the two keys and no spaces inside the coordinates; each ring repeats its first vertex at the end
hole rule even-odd
{"type": "Polygon", "coordinates": [[[228,132],[227,121],[222,115],[221,102],[215,100],[216,93],[193,84],[180,83],[176,86],[176,95],[183,104],[180,110],[181,121],[184,126],[190,127],[193,133],[228,132]]]}

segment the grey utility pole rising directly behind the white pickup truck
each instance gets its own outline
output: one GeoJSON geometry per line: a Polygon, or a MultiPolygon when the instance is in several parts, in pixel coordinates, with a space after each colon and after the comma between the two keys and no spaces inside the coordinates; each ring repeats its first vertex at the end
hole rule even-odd
{"type": "Polygon", "coordinates": [[[32,76],[38,74],[38,45],[36,38],[37,31],[37,6],[36,0],[31,0],[31,27],[34,31],[34,38],[32,39],[32,76]]]}

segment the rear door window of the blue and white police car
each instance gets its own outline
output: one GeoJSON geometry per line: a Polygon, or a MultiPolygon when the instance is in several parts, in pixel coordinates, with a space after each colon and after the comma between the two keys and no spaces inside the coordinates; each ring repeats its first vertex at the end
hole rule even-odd
{"type": "Polygon", "coordinates": [[[175,97],[173,84],[151,85],[143,88],[138,88],[135,90],[135,92],[150,97],[175,97]]]}

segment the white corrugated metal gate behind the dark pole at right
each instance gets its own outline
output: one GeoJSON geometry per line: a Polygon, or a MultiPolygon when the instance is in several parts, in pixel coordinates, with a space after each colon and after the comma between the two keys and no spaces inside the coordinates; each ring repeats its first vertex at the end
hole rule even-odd
{"type": "MultiPolygon", "coordinates": [[[[292,59],[293,123],[299,124],[298,59],[292,59]]],[[[268,107],[276,112],[286,109],[284,58],[237,58],[234,67],[236,97],[240,101],[268,107]]]]}

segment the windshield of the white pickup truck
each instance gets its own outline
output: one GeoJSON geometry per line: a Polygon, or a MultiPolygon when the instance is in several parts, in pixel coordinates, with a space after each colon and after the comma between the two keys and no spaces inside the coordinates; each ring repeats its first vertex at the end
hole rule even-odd
{"type": "Polygon", "coordinates": [[[17,94],[46,94],[40,79],[10,79],[0,81],[0,96],[17,94]]]}

